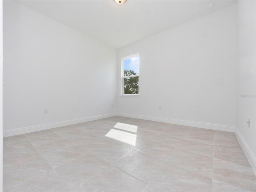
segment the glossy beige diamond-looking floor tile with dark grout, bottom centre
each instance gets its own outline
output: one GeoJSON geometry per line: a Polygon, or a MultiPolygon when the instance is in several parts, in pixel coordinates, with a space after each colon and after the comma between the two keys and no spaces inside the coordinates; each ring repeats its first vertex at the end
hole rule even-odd
{"type": "Polygon", "coordinates": [[[114,166],[135,178],[148,183],[162,164],[163,162],[160,160],[156,160],[155,158],[141,152],[134,151],[115,163],[114,166]]]}

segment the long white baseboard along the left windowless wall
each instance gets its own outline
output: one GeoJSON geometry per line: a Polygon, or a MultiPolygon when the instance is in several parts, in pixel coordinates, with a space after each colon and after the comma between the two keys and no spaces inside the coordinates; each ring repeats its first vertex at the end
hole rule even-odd
{"type": "Polygon", "coordinates": [[[116,116],[116,113],[110,113],[110,114],[91,116],[91,117],[85,117],[85,118],[80,118],[80,119],[67,120],[67,121],[62,121],[62,122],[55,122],[55,123],[49,123],[49,124],[43,124],[43,125],[36,125],[36,126],[6,130],[6,131],[3,131],[3,137],[9,137],[9,136],[14,136],[14,135],[19,135],[19,134],[25,134],[25,133],[35,132],[35,131],[56,128],[56,127],[62,127],[62,126],[66,126],[66,125],[78,124],[78,123],[83,123],[83,122],[88,122],[88,121],[93,121],[93,120],[98,120],[98,119],[103,119],[103,118],[108,118],[108,117],[113,117],[113,116],[116,116]]]}

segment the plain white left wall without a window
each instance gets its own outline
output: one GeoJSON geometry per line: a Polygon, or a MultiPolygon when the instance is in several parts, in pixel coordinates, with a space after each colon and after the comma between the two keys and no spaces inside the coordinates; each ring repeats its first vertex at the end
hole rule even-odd
{"type": "Polygon", "coordinates": [[[5,132],[115,112],[114,48],[15,2],[3,11],[5,132]]]}

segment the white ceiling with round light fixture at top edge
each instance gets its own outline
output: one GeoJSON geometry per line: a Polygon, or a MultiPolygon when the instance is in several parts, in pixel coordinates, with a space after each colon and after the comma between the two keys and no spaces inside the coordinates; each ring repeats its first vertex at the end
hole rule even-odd
{"type": "Polygon", "coordinates": [[[204,16],[232,0],[18,0],[48,18],[87,34],[114,48],[204,16]],[[212,9],[207,6],[214,3],[212,9]]]}

